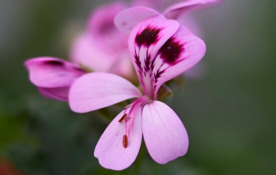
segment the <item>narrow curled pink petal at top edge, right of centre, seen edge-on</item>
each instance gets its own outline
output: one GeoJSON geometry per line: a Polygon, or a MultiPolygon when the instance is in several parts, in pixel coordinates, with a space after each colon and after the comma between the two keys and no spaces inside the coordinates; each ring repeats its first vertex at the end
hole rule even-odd
{"type": "Polygon", "coordinates": [[[220,0],[186,0],[184,2],[179,2],[169,6],[164,10],[163,14],[167,18],[176,19],[179,15],[190,10],[191,8],[201,7],[206,4],[210,5],[210,3],[218,2],[220,2],[220,0]]]}

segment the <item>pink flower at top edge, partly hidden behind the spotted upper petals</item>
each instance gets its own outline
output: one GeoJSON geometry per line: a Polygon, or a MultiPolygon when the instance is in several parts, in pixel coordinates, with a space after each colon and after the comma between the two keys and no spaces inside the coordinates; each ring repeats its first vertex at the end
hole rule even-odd
{"type": "MultiPolygon", "coordinates": [[[[188,27],[194,34],[204,38],[204,32],[202,31],[200,24],[193,16],[187,13],[194,11],[195,9],[218,4],[220,1],[221,0],[132,0],[132,5],[136,7],[121,11],[117,14],[114,21],[120,31],[129,33],[137,23],[148,17],[159,15],[160,13],[158,11],[161,11],[161,13],[167,18],[178,20],[182,25],[188,27]]],[[[190,77],[192,79],[200,79],[204,77],[204,73],[206,73],[206,65],[202,62],[199,64],[200,65],[197,67],[193,67],[185,72],[185,77],[190,77]],[[203,67],[202,70],[201,67],[203,67]]]]}

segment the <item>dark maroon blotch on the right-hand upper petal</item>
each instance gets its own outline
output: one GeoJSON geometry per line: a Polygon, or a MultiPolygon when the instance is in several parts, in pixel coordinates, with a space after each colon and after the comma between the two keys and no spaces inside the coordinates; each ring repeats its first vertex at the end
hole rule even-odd
{"type": "Polygon", "coordinates": [[[184,51],[183,44],[176,41],[173,37],[168,39],[159,49],[161,58],[169,64],[174,64],[182,51],[184,51]]]}

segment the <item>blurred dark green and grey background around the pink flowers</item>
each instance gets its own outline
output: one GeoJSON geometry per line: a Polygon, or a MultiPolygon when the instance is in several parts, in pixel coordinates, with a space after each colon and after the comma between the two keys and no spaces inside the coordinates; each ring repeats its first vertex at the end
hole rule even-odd
{"type": "Polygon", "coordinates": [[[106,1],[0,0],[0,168],[41,175],[275,174],[274,1],[224,0],[193,13],[204,31],[206,69],[200,78],[186,77],[184,89],[173,86],[169,100],[188,131],[189,151],[160,165],[144,147],[145,156],[124,171],[104,169],[93,156],[108,121],[42,97],[23,66],[35,56],[67,58],[91,10],[106,1]]]}

